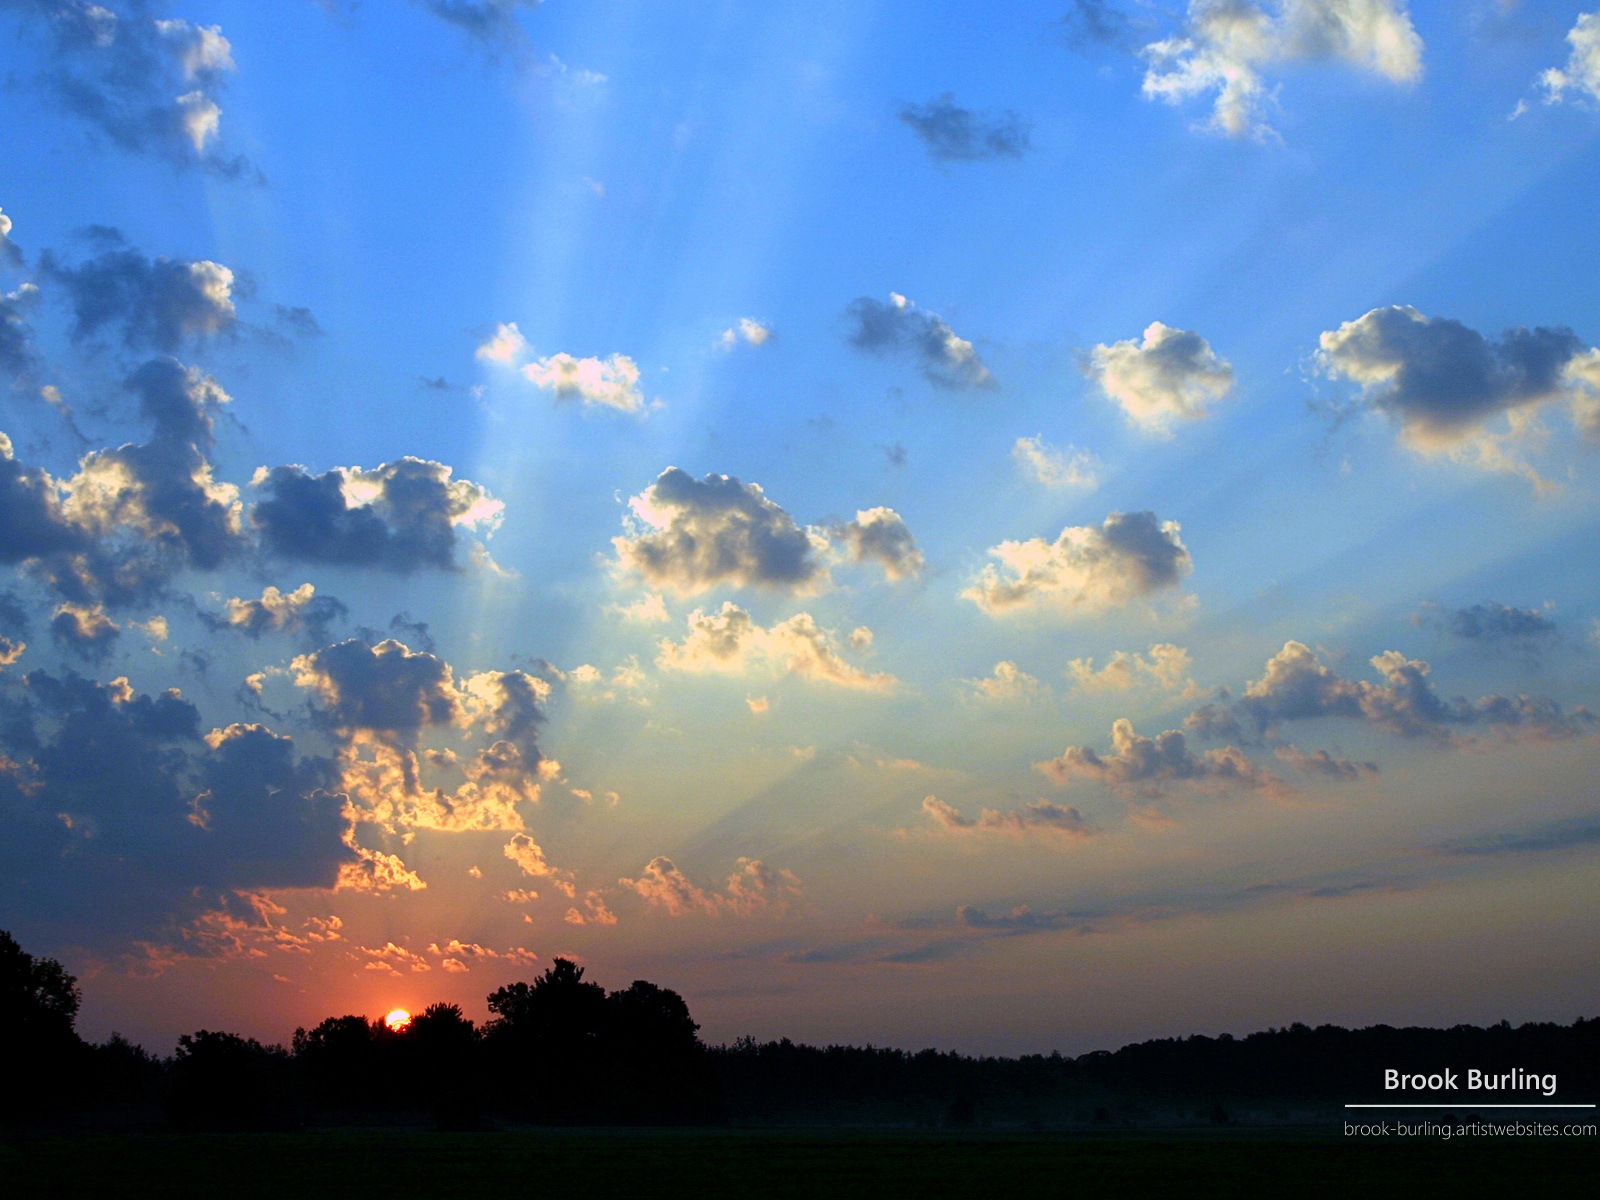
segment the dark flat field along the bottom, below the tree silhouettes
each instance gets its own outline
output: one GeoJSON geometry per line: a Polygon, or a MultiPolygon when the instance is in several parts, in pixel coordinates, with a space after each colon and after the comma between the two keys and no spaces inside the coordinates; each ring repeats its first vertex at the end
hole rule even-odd
{"type": "Polygon", "coordinates": [[[32,1197],[1594,1195],[1600,1144],[1248,1131],[326,1131],[0,1139],[32,1197]]]}

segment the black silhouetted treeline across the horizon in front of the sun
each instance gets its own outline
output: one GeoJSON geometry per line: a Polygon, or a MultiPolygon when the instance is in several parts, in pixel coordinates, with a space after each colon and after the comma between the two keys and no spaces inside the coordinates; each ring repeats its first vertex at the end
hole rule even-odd
{"type": "MultiPolygon", "coordinates": [[[[410,1123],[1024,1125],[1285,1118],[1397,1099],[1386,1069],[1558,1077],[1595,1099],[1600,1021],[1480,1029],[1310,1029],[1139,1042],[1117,1051],[973,1058],[934,1050],[707,1046],[683,998],[635,981],[606,992],[565,958],[488,997],[475,1026],[438,1003],[403,1029],[363,1016],[294,1030],[288,1048],[218,1030],[158,1058],[118,1035],[83,1042],[77,981],[0,931],[0,1118],[155,1120],[189,1126],[410,1123]]],[[[1534,1101],[1506,1093],[1400,1099],[1534,1101]]]]}

